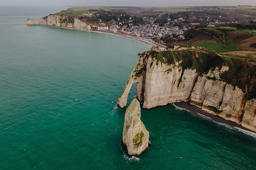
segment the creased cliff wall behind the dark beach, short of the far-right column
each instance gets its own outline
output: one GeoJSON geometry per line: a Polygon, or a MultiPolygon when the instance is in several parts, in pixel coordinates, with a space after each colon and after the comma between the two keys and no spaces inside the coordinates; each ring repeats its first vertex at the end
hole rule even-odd
{"type": "Polygon", "coordinates": [[[245,104],[244,93],[238,87],[234,89],[232,85],[223,81],[198,77],[191,94],[190,104],[241,124],[245,104]]]}

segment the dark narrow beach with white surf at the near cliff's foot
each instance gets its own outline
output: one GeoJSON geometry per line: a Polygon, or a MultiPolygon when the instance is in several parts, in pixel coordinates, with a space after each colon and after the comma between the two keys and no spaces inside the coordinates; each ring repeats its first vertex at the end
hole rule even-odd
{"type": "Polygon", "coordinates": [[[238,129],[238,130],[244,132],[245,134],[256,137],[256,132],[255,131],[247,129],[247,128],[243,127],[242,125],[239,125],[239,124],[235,123],[234,121],[226,120],[226,119],[224,119],[222,117],[219,117],[217,115],[210,114],[210,113],[202,110],[199,107],[193,106],[189,102],[177,102],[177,103],[173,103],[173,104],[175,105],[175,107],[185,109],[189,112],[192,112],[193,114],[202,115],[203,117],[206,117],[206,118],[208,118],[208,119],[210,119],[210,120],[212,120],[216,123],[220,123],[220,124],[230,126],[232,128],[235,128],[235,129],[238,129]]]}

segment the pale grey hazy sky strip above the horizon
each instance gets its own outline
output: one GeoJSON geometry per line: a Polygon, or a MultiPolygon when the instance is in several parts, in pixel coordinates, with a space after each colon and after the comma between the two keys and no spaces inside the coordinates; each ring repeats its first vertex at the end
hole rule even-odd
{"type": "Polygon", "coordinates": [[[0,0],[1,5],[39,6],[198,6],[255,5],[256,0],[0,0]]]}

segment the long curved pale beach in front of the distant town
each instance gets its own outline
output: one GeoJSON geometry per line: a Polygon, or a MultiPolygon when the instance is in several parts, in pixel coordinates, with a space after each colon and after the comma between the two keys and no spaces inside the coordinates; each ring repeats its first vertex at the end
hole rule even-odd
{"type": "MultiPolygon", "coordinates": [[[[41,25],[41,26],[48,26],[48,25],[41,25]]],[[[165,46],[163,44],[160,44],[158,42],[155,42],[151,39],[135,37],[135,36],[126,35],[126,34],[123,34],[123,33],[114,33],[114,32],[110,32],[110,31],[101,31],[101,30],[87,30],[87,29],[78,29],[78,28],[67,28],[67,27],[59,27],[59,26],[48,26],[48,27],[66,28],[66,29],[74,29],[74,30],[81,30],[81,31],[89,31],[89,32],[97,32],[97,33],[117,35],[117,36],[122,36],[124,38],[129,38],[129,39],[133,39],[133,40],[136,40],[136,41],[139,41],[139,42],[143,42],[144,44],[148,44],[148,45],[152,45],[152,46],[159,46],[160,48],[164,48],[164,49],[167,48],[167,46],[165,46]]]]}

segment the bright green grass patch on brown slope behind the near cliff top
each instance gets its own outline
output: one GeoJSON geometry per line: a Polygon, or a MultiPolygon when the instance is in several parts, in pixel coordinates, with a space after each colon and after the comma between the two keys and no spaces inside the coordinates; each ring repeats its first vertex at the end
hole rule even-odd
{"type": "Polygon", "coordinates": [[[241,49],[236,48],[234,40],[227,40],[227,45],[216,44],[214,42],[199,42],[196,46],[202,46],[216,52],[241,51],[241,49]]]}

